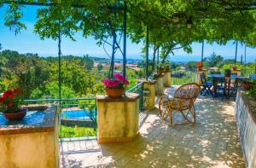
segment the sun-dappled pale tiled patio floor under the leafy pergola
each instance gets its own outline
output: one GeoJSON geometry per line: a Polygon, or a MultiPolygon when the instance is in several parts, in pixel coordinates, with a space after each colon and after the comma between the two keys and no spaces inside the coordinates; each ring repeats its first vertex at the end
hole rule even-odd
{"type": "Polygon", "coordinates": [[[195,125],[170,127],[160,119],[157,109],[142,113],[140,135],[134,142],[62,142],[60,166],[244,167],[235,101],[200,97],[195,107],[195,125]]]}

